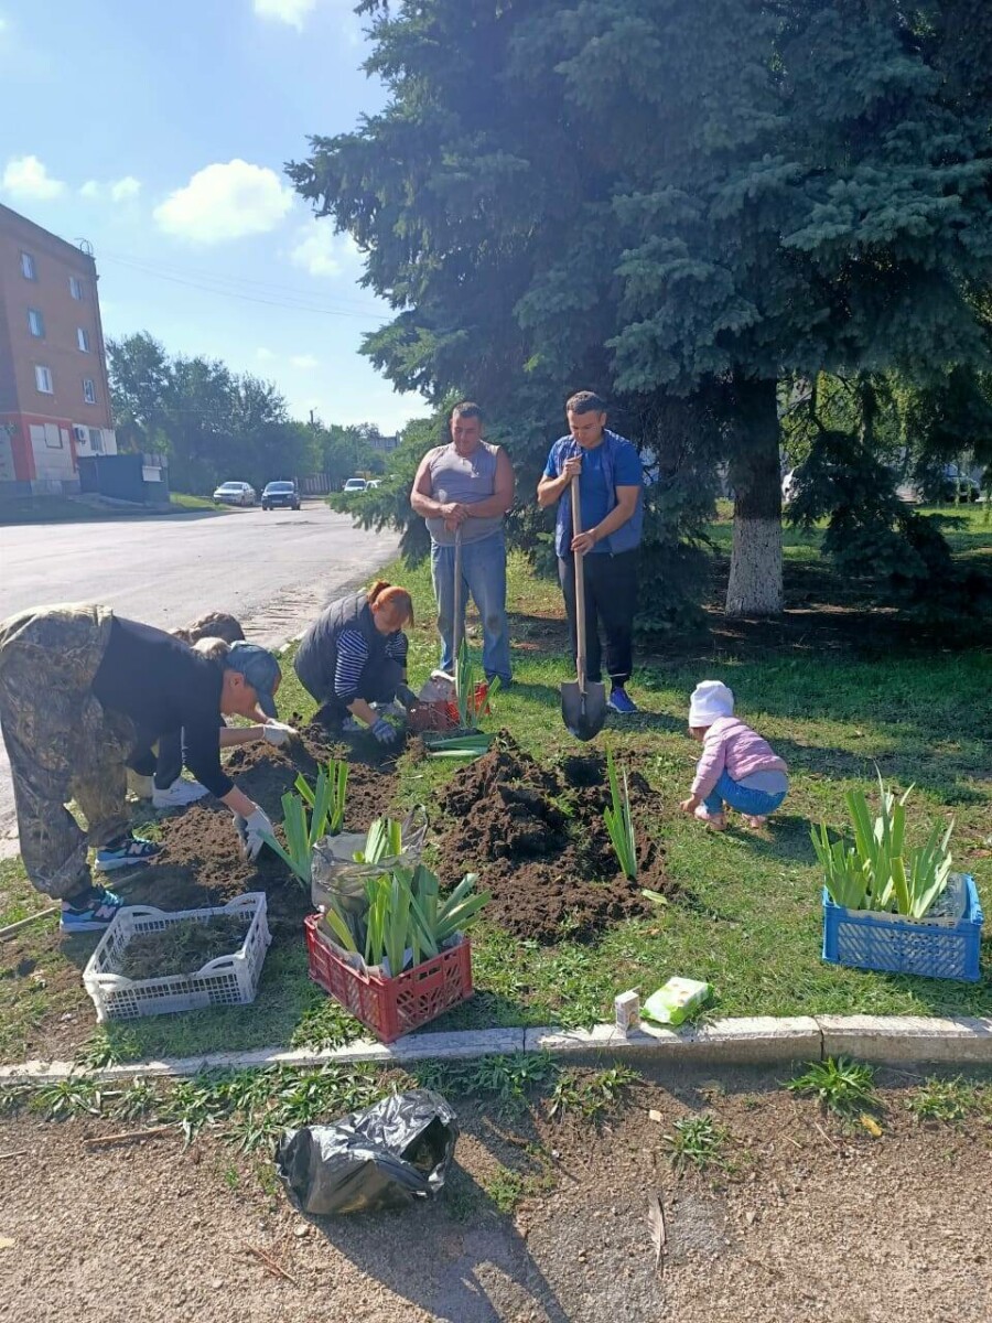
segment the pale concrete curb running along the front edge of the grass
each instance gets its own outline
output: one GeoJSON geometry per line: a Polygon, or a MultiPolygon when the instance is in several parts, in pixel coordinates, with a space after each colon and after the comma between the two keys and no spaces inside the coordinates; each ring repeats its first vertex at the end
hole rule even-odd
{"type": "Polygon", "coordinates": [[[71,1061],[24,1061],[0,1066],[0,1088],[49,1084],[73,1074],[98,1080],[135,1076],[188,1078],[201,1070],[262,1070],[267,1066],[320,1066],[356,1061],[410,1065],[417,1061],[468,1061],[515,1052],[549,1052],[557,1057],[623,1057],[645,1065],[727,1066],[820,1061],[850,1056],[880,1065],[932,1062],[992,1066],[992,1017],[950,1020],[925,1016],[824,1015],[716,1020],[680,1032],[639,1031],[623,1035],[612,1024],[593,1029],[464,1029],[415,1033],[392,1044],[362,1040],[345,1048],[288,1052],[216,1052],[198,1057],[165,1057],[86,1070],[71,1061]]]}

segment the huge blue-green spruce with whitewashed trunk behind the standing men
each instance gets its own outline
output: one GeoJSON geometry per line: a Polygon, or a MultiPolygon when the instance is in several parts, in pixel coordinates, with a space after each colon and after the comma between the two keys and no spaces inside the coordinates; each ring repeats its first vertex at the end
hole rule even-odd
{"type": "Polygon", "coordinates": [[[365,283],[395,310],[365,352],[435,404],[479,398],[521,491],[567,394],[607,394],[645,456],[679,456],[659,484],[671,499],[649,503],[648,545],[672,548],[673,517],[701,529],[700,476],[722,454],[727,610],[778,610],[779,381],[927,381],[987,361],[981,5],[358,9],[388,107],[312,139],[290,175],[356,238],[365,283]],[[700,417],[700,435],[663,435],[700,417]]]}

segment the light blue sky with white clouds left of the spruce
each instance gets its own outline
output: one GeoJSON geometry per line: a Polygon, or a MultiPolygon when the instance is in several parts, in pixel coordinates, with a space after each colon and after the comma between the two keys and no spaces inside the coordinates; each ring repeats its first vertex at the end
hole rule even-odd
{"type": "Polygon", "coordinates": [[[388,308],[283,164],[384,102],[353,0],[0,0],[0,200],[93,243],[104,333],[393,431],[423,411],[358,355],[388,308]]]}

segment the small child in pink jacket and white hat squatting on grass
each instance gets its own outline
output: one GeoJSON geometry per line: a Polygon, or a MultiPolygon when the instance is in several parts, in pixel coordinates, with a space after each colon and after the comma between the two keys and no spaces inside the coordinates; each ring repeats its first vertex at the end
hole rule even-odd
{"type": "Polygon", "coordinates": [[[761,827],[788,794],[786,763],[734,716],[734,695],[720,680],[697,684],[689,701],[689,734],[702,742],[692,794],[679,806],[710,831],[726,827],[725,806],[761,827]]]}

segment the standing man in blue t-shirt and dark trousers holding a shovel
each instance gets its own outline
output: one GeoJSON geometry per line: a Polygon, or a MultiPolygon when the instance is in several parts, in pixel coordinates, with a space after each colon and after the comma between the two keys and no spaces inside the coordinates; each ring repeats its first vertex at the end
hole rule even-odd
{"type": "Polygon", "coordinates": [[[638,548],[644,523],[644,470],[630,441],[608,431],[606,405],[591,390],[579,390],[565,405],[569,435],[552,446],[537,504],[558,503],[554,549],[565,594],[571,651],[575,638],[575,556],[585,557],[586,673],[602,679],[599,624],[606,635],[608,704],[614,712],[636,712],[626,684],[632,669],[634,613],[638,605],[638,548]],[[573,533],[571,479],[579,480],[582,532],[573,533]]]}

